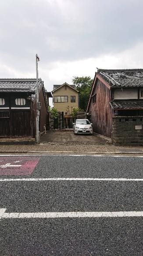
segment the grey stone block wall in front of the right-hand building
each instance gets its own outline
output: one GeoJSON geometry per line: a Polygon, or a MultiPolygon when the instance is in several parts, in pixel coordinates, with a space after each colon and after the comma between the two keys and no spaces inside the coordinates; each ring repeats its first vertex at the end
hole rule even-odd
{"type": "Polygon", "coordinates": [[[112,142],[114,145],[143,145],[143,116],[113,117],[112,142]]]}

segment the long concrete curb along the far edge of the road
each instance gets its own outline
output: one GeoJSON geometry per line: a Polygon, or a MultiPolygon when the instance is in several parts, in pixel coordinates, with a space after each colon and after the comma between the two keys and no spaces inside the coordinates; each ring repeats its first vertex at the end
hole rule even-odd
{"type": "Polygon", "coordinates": [[[59,153],[59,154],[143,154],[143,152],[95,152],[95,151],[0,151],[0,154],[59,153]]]}

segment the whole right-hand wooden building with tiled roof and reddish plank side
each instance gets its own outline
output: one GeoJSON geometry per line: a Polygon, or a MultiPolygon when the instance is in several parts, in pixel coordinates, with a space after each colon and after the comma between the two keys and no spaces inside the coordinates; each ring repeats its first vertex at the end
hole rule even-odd
{"type": "Polygon", "coordinates": [[[138,143],[140,140],[142,143],[143,69],[98,69],[86,111],[94,132],[113,138],[113,132],[115,136],[118,131],[120,137],[115,139],[118,143],[125,140],[127,134],[130,141],[126,142],[138,143]],[[138,126],[140,132],[136,133],[138,126]],[[125,132],[122,139],[124,131],[128,133],[125,132]],[[134,136],[136,139],[132,139],[134,136]]]}

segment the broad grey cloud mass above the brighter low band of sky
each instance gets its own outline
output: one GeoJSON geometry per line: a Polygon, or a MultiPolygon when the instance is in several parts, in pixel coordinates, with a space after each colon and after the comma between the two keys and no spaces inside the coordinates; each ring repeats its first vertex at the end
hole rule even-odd
{"type": "Polygon", "coordinates": [[[21,67],[36,52],[45,62],[79,60],[143,40],[142,0],[7,0],[0,9],[2,57],[21,67]]]}

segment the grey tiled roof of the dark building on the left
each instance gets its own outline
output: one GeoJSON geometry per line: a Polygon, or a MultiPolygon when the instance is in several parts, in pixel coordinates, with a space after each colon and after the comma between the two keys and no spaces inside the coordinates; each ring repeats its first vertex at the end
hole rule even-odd
{"type": "MultiPolygon", "coordinates": [[[[42,80],[38,79],[38,89],[42,80]]],[[[36,79],[0,79],[0,92],[28,92],[32,93],[32,100],[36,97],[36,79]]]]}

